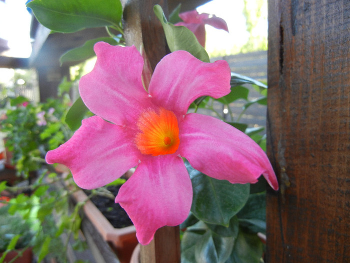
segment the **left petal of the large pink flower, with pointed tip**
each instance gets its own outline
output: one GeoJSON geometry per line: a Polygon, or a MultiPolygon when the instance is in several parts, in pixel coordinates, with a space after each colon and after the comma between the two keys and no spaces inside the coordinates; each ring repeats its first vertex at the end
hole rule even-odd
{"type": "Polygon", "coordinates": [[[46,162],[66,165],[79,187],[97,188],[138,164],[140,154],[129,137],[125,128],[93,116],[67,142],[47,152],[46,162]]]}

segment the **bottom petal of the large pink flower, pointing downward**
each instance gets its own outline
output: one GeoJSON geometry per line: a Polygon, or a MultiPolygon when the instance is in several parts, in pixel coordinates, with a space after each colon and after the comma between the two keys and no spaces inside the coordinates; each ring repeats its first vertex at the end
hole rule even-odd
{"type": "Polygon", "coordinates": [[[138,241],[148,244],[164,225],[178,225],[188,216],[192,184],[180,157],[146,157],[121,186],[115,202],[125,209],[138,241]]]}

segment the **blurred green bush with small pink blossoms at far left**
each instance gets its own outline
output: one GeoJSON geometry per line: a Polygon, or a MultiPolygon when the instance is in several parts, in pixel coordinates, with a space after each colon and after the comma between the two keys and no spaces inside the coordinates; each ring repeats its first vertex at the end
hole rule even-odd
{"type": "Polygon", "coordinates": [[[9,104],[1,131],[6,136],[5,146],[12,152],[12,164],[18,174],[27,177],[42,166],[48,150],[70,137],[61,121],[66,105],[59,99],[35,104],[24,97],[10,98],[9,104]]]}

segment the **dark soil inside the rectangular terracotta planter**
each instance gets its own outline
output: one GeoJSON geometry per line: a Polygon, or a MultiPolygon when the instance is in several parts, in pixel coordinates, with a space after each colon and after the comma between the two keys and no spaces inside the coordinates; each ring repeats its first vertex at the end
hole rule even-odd
{"type": "MultiPolygon", "coordinates": [[[[107,190],[116,196],[120,186],[121,185],[108,186],[107,190]]],[[[85,190],[85,192],[87,194],[89,193],[88,190],[85,190]]],[[[125,210],[118,203],[114,203],[114,200],[104,196],[95,195],[91,198],[91,201],[115,228],[122,228],[132,225],[132,222],[125,210]]]]}

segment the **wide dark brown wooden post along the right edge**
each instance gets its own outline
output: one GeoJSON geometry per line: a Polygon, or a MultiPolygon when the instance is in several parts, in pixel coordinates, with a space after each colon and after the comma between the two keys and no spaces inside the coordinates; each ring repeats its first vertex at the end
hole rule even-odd
{"type": "Polygon", "coordinates": [[[266,262],[350,262],[350,1],[268,0],[266,262]]]}

